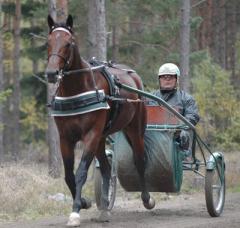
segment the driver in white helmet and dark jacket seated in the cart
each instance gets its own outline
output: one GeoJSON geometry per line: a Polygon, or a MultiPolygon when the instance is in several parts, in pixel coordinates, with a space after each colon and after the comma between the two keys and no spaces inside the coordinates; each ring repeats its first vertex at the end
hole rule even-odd
{"type": "MultiPolygon", "coordinates": [[[[162,98],[171,106],[174,106],[180,114],[182,114],[190,123],[196,125],[199,121],[198,108],[194,98],[187,92],[179,89],[180,70],[173,63],[165,63],[159,68],[159,90],[152,94],[162,98]]],[[[148,104],[157,105],[155,101],[148,104]]],[[[191,156],[189,150],[190,134],[186,130],[182,130],[179,137],[180,147],[184,150],[186,156],[191,156]]]]}

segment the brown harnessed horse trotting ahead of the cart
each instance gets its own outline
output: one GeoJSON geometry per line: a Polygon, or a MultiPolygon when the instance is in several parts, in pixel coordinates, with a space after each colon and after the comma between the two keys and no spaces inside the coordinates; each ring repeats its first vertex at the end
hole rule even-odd
{"type": "Polygon", "coordinates": [[[143,204],[147,209],[152,209],[155,201],[150,197],[144,178],[143,136],[146,107],[138,94],[119,86],[124,83],[143,89],[140,76],[131,70],[107,67],[107,72],[110,72],[115,82],[112,86],[115,88],[115,95],[111,96],[111,83],[102,72],[105,67],[91,67],[80,55],[74,37],[72,16],[68,15],[66,21],[58,23],[49,15],[47,21],[48,61],[45,74],[49,83],[57,83],[51,105],[55,110],[53,116],[60,137],[65,182],[73,198],[67,225],[80,225],[80,210],[90,206],[90,202],[82,197],[82,188],[94,157],[100,163],[103,178],[101,210],[109,215],[107,195],[111,166],[105,154],[105,140],[108,135],[120,130],[124,132],[133,149],[143,204]],[[74,174],[74,147],[78,141],[82,141],[84,149],[74,174]]]}

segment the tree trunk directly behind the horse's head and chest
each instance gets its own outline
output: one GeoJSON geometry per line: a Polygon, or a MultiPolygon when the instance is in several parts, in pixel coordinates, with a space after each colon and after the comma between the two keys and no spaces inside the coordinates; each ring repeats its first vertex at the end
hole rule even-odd
{"type": "MultiPolygon", "coordinates": [[[[57,18],[57,5],[56,0],[49,1],[49,14],[54,20],[57,18]]],[[[47,86],[47,100],[51,102],[52,95],[55,93],[55,86],[48,84],[47,86]]],[[[50,176],[58,178],[61,175],[61,157],[59,148],[59,134],[53,117],[48,115],[48,171],[50,176]]]]}

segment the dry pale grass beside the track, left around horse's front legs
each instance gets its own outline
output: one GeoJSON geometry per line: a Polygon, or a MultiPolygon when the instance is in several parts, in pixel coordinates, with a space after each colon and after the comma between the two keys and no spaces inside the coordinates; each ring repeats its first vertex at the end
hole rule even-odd
{"type": "MultiPolygon", "coordinates": [[[[71,212],[72,199],[64,178],[48,176],[46,165],[4,164],[0,168],[0,221],[36,219],[71,212]],[[63,193],[65,200],[50,196],[63,193]]],[[[92,198],[92,183],[83,192],[92,198]]]]}

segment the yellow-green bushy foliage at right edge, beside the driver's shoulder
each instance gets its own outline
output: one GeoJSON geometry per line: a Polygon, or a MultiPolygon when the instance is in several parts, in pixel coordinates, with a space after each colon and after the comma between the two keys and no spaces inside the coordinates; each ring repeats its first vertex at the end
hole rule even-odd
{"type": "Polygon", "coordinates": [[[214,147],[239,149],[240,102],[230,83],[230,74],[208,56],[193,70],[194,96],[202,128],[200,132],[214,147]]]}

